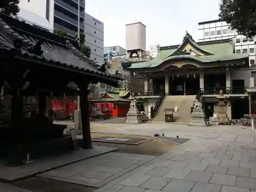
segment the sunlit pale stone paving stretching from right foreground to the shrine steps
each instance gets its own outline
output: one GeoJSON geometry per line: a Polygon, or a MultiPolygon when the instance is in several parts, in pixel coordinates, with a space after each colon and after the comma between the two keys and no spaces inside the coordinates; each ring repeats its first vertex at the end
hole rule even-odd
{"type": "MultiPolygon", "coordinates": [[[[108,126],[108,125],[106,125],[108,126]]],[[[104,132],[179,135],[190,141],[95,192],[255,192],[256,145],[254,131],[241,126],[188,127],[186,125],[142,124],[104,132]]],[[[94,131],[97,127],[94,126],[94,131]]]]}

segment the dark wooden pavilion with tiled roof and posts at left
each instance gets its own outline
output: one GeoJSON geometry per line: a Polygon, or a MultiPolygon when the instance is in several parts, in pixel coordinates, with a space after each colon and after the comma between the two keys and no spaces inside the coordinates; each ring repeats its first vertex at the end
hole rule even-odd
{"type": "Polygon", "coordinates": [[[15,146],[30,142],[37,132],[35,124],[24,118],[25,96],[38,96],[40,118],[36,120],[40,121],[37,125],[44,124],[49,128],[52,122],[46,123],[47,96],[78,94],[83,147],[92,147],[89,84],[104,82],[117,87],[121,79],[106,73],[104,66],[97,66],[77,48],[77,42],[72,39],[0,15],[0,87],[11,95],[10,138],[15,146]],[[79,89],[70,89],[70,82],[79,89]]]}

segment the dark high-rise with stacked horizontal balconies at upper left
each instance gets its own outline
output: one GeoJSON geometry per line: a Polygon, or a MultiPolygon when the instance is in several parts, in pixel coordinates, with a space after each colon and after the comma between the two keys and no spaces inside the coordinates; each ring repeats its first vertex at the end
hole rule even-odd
{"type": "Polygon", "coordinates": [[[72,38],[78,31],[78,7],[80,9],[80,32],[84,32],[85,0],[54,0],[54,28],[66,31],[72,38]]]}

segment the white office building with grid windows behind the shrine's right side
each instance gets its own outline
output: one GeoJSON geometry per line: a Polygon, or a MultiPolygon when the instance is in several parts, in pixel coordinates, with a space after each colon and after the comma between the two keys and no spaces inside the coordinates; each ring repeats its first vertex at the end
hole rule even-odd
{"type": "Polygon", "coordinates": [[[249,62],[255,64],[255,37],[250,39],[232,30],[223,20],[210,20],[198,24],[199,41],[220,40],[233,38],[236,53],[249,53],[249,62]]]}

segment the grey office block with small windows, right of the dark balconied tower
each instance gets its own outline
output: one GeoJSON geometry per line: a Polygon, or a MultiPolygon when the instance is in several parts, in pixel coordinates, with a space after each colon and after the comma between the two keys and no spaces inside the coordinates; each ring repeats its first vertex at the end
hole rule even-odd
{"type": "Polygon", "coordinates": [[[104,57],[104,24],[87,13],[85,18],[86,45],[91,48],[91,59],[102,64],[104,57]]]}

